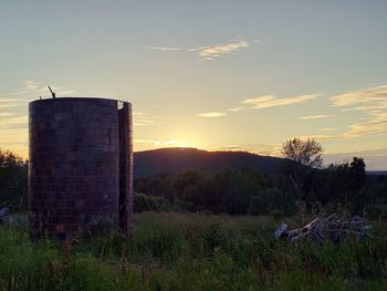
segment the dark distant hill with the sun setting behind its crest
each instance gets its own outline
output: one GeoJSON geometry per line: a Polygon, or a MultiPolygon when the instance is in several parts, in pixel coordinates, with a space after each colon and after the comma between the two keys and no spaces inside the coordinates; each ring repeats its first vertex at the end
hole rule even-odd
{"type": "Polygon", "coordinates": [[[160,148],[134,154],[135,177],[157,174],[176,174],[197,169],[218,172],[223,169],[253,169],[278,173],[285,159],[260,156],[247,152],[207,152],[197,148],[160,148]]]}

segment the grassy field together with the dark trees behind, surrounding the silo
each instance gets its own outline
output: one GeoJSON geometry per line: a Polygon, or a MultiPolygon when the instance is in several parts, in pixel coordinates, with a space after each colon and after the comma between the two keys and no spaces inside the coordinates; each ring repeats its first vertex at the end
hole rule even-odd
{"type": "MultiPolygon", "coordinates": [[[[27,167],[0,152],[0,207],[11,212],[25,210],[27,167]]],[[[387,177],[367,176],[362,158],[325,169],[289,160],[270,176],[166,174],[137,178],[135,190],[130,238],[31,241],[27,219],[11,216],[18,228],[0,226],[0,290],[387,290],[387,177]],[[273,236],[279,219],[293,228],[332,210],[374,219],[375,238],[273,236]]]]}

